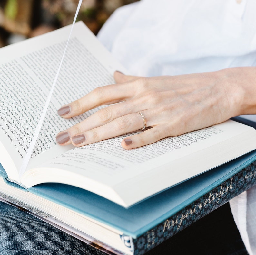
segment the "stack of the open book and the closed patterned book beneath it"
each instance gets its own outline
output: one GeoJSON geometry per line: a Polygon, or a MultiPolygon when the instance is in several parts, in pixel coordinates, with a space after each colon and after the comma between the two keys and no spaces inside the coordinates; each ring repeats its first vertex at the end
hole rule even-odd
{"type": "Polygon", "coordinates": [[[101,107],[69,120],[57,109],[125,72],[81,22],[23,173],[69,29],[0,49],[2,200],[116,254],[143,254],[254,184],[256,131],[233,120],[133,150],[120,145],[129,134],[57,145],[58,132],[101,107]]]}

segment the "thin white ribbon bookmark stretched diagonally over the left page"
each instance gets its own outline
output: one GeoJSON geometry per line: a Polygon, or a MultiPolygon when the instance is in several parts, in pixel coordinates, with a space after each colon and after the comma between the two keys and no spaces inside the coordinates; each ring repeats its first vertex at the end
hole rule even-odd
{"type": "Polygon", "coordinates": [[[80,10],[80,7],[81,7],[81,4],[82,4],[82,1],[83,0],[79,0],[79,3],[78,3],[78,6],[77,6],[77,9],[76,9],[76,13],[75,13],[75,17],[74,17],[74,21],[73,21],[73,24],[72,24],[72,27],[71,27],[71,31],[69,33],[69,36],[68,36],[68,41],[67,41],[67,44],[66,44],[66,47],[65,47],[65,50],[64,50],[64,53],[63,53],[63,56],[62,56],[62,59],[61,59],[61,62],[60,62],[60,65],[59,65],[59,68],[58,68],[58,71],[56,73],[56,76],[55,76],[55,79],[54,79],[54,82],[53,82],[53,85],[52,85],[52,88],[50,90],[50,93],[49,93],[49,96],[46,100],[46,103],[44,105],[44,110],[42,112],[42,115],[38,121],[38,124],[37,124],[37,127],[36,127],[36,130],[35,130],[35,133],[34,133],[34,136],[33,136],[33,139],[29,145],[29,148],[27,150],[27,153],[26,153],[26,156],[22,162],[22,165],[21,165],[21,168],[20,168],[20,172],[19,172],[19,176],[21,177],[25,171],[26,171],[26,168],[27,168],[27,165],[28,165],[28,162],[29,162],[29,159],[31,158],[31,154],[34,150],[34,147],[35,147],[35,144],[36,144],[36,141],[37,141],[37,137],[39,135],[39,132],[41,130],[41,126],[43,124],[43,121],[44,121],[44,117],[45,117],[45,114],[46,114],[46,111],[47,111],[47,108],[50,104],[50,100],[51,100],[51,97],[52,97],[52,94],[53,94],[53,91],[54,91],[54,87],[55,87],[55,84],[57,82],[57,78],[59,76],[59,73],[60,73],[60,69],[61,69],[61,65],[62,65],[62,62],[63,62],[63,59],[64,59],[64,56],[65,56],[65,53],[66,53],[66,50],[67,50],[67,47],[68,47],[68,42],[69,42],[69,39],[71,37],[71,33],[73,31],[73,28],[74,28],[74,24],[75,24],[75,21],[76,21],[76,18],[77,18],[77,15],[78,15],[78,12],[80,10]]]}

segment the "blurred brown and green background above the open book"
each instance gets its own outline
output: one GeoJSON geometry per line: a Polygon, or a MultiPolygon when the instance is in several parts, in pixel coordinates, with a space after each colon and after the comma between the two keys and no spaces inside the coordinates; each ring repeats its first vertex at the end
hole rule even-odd
{"type": "MultiPolygon", "coordinates": [[[[78,19],[97,34],[113,11],[138,0],[83,0],[78,19]]],[[[0,47],[71,24],[79,0],[0,0],[0,47]]]]}

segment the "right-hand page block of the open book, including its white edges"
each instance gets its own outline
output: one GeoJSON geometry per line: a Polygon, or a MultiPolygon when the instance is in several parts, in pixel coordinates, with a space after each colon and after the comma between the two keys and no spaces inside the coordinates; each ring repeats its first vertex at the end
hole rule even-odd
{"type": "Polygon", "coordinates": [[[74,148],[31,169],[22,181],[28,187],[39,183],[37,179],[47,182],[43,173],[49,172],[52,182],[81,187],[129,206],[255,149],[250,141],[256,139],[253,128],[231,120],[133,150],[123,149],[122,139],[132,134],[74,148]]]}

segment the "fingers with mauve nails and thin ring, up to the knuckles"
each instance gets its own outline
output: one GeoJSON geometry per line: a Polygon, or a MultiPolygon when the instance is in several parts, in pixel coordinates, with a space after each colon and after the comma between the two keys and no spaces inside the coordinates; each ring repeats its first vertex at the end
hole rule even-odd
{"type": "MultiPolygon", "coordinates": [[[[152,100],[148,96],[150,94],[145,96],[143,92],[145,86],[140,86],[143,89],[138,89],[138,86],[142,83],[140,77],[115,72],[114,78],[117,84],[98,87],[81,99],[59,109],[59,115],[70,118],[100,105],[118,103],[100,109],[84,121],[59,133],[56,137],[59,144],[72,143],[74,146],[84,146],[142,129],[145,124],[153,126],[153,128],[139,135],[125,138],[122,141],[123,148],[140,147],[169,136],[166,125],[163,125],[162,120],[159,119],[161,114],[152,114],[153,109],[150,109],[152,100]],[[145,114],[145,118],[143,114],[138,112],[145,114]]],[[[156,104],[156,102],[155,99],[153,103],[156,104]]]]}

